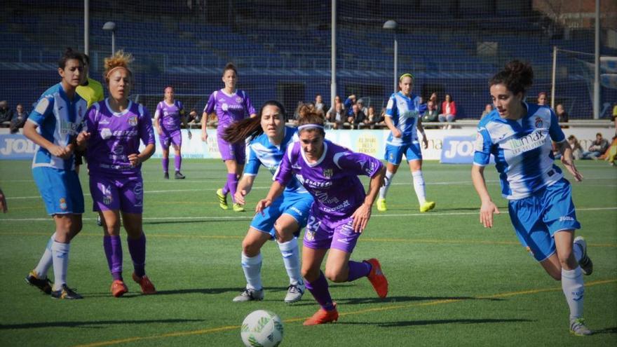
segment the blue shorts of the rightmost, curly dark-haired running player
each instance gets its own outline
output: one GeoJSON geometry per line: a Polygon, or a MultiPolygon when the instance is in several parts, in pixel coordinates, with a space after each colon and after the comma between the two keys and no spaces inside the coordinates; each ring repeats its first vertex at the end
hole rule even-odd
{"type": "Polygon", "coordinates": [[[572,203],[572,187],[564,178],[527,198],[510,200],[508,211],[520,243],[537,261],[555,253],[557,231],[581,229],[572,203]]]}

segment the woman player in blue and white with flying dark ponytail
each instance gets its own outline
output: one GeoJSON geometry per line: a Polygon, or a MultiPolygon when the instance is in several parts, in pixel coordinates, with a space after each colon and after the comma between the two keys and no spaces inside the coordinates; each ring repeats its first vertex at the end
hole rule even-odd
{"type": "MultiPolygon", "coordinates": [[[[259,117],[247,118],[229,125],[224,140],[230,143],[252,138],[248,145],[248,161],[244,174],[238,183],[236,202],[244,205],[245,196],[251,191],[260,165],[276,172],[287,145],[297,140],[296,130],[285,126],[285,109],[276,101],[266,102],[259,111],[259,117]]],[[[268,240],[278,241],[290,285],[285,302],[299,301],[304,294],[304,280],[300,274],[300,257],[297,236],[306,226],[308,211],[313,205],[313,196],[297,181],[291,179],[285,191],[264,214],[253,217],[250,228],[242,242],[242,268],[246,278],[246,289],[233,301],[264,299],[262,286],[262,254],[259,252],[268,240]]]]}

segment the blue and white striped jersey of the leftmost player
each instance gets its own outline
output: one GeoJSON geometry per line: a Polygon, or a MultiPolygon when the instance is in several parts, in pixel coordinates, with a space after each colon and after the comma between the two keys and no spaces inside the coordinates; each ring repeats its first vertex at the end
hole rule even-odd
{"type": "MultiPolygon", "coordinates": [[[[88,102],[74,93],[69,100],[62,83],[52,86],[41,95],[28,121],[39,126],[38,131],[49,142],[66,147],[79,134],[86,116],[88,102]]],[[[32,168],[46,166],[59,170],[74,170],[74,156],[67,159],[52,156],[47,149],[39,147],[34,154],[32,168]]]]}

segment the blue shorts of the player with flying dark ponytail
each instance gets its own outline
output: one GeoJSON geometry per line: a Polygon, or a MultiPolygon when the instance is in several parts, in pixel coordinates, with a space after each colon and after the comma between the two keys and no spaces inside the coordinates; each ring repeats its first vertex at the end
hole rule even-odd
{"type": "Polygon", "coordinates": [[[313,205],[313,196],[309,193],[287,193],[279,196],[264,210],[264,214],[257,213],[251,222],[251,227],[262,233],[269,233],[274,237],[274,223],[281,215],[290,215],[298,222],[299,229],[294,233],[299,236],[300,230],[306,226],[308,212],[313,205]]]}

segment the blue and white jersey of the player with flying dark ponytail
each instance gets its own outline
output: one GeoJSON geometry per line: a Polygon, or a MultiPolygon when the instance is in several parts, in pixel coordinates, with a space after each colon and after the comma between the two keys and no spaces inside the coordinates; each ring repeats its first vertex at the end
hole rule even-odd
{"type": "MultiPolygon", "coordinates": [[[[298,140],[296,128],[285,127],[283,142],[278,146],[272,144],[266,134],[259,135],[251,140],[247,147],[247,161],[244,167],[244,175],[255,176],[259,170],[259,165],[264,165],[271,174],[278,170],[280,161],[283,160],[287,145],[298,140]]],[[[293,178],[285,187],[285,191],[290,193],[308,193],[304,186],[293,178]]]]}

